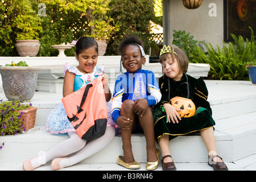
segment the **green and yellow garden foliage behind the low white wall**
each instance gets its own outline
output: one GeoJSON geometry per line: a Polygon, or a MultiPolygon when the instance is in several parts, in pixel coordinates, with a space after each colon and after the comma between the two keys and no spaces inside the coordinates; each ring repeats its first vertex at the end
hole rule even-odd
{"type": "MultiPolygon", "coordinates": [[[[17,39],[39,39],[38,56],[57,56],[51,45],[71,43],[81,36],[109,43],[106,55],[117,55],[119,41],[138,35],[145,45],[154,19],[154,0],[2,0],[0,2],[0,56],[18,56],[17,39]],[[46,6],[39,16],[39,3],[46,6]]],[[[40,11],[41,13],[41,11],[40,11]]],[[[146,49],[149,51],[149,47],[146,49]]],[[[75,48],[65,50],[73,56],[75,48]]]]}

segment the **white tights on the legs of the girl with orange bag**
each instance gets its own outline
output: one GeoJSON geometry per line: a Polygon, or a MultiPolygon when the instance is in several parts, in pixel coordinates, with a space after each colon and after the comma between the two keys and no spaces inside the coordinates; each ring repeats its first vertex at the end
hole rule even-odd
{"type": "Polygon", "coordinates": [[[62,158],[77,151],[75,155],[61,160],[60,167],[68,167],[79,163],[81,160],[96,154],[98,151],[102,150],[102,148],[106,147],[114,138],[115,129],[112,126],[106,127],[105,134],[102,137],[91,140],[88,144],[86,144],[86,140],[79,137],[76,131],[70,131],[68,135],[70,137],[69,139],[60,142],[55,147],[48,150],[45,155],[32,159],[32,166],[39,167],[50,160],[62,158]]]}

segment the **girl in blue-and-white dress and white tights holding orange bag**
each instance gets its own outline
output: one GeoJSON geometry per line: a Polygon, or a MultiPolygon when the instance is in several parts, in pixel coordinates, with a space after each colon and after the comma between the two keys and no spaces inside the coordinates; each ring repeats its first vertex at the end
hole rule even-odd
{"type": "MultiPolygon", "coordinates": [[[[72,42],[73,43],[73,42],[72,42]]],[[[76,44],[75,57],[79,61],[77,67],[65,64],[64,69],[64,84],[63,84],[63,97],[68,94],[79,90],[90,81],[98,76],[102,76],[102,84],[104,85],[104,92],[106,102],[110,101],[112,94],[109,90],[109,77],[104,73],[104,66],[97,66],[98,59],[98,44],[93,38],[82,37],[76,44]]],[[[64,167],[72,166],[79,163],[81,160],[96,154],[107,146],[115,135],[115,123],[112,120],[110,109],[111,104],[107,103],[108,108],[108,122],[106,125],[105,134],[102,137],[91,140],[86,144],[85,139],[81,139],[77,134],[72,123],[68,120],[67,113],[61,102],[55,109],[51,111],[48,116],[46,129],[51,134],[68,133],[69,139],[57,144],[46,152],[46,155],[38,156],[26,160],[23,163],[24,170],[34,170],[52,160],[51,169],[57,170],[64,167]],[[77,152],[78,151],[78,152],[77,152]],[[73,152],[75,155],[65,157],[73,152]]]]}

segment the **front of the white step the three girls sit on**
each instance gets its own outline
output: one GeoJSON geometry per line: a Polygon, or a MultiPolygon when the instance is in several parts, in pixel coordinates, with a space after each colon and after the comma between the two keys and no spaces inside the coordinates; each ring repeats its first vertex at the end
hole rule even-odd
{"type": "MultiPolygon", "coordinates": [[[[245,158],[255,154],[256,151],[256,112],[229,119],[217,121],[216,146],[218,154],[225,162],[245,158]],[[243,125],[238,123],[245,122],[243,125]],[[218,123],[220,125],[218,126],[218,123]],[[229,129],[224,125],[234,126],[229,129]],[[223,129],[222,129],[223,126],[223,129]]],[[[68,139],[67,134],[52,135],[44,130],[44,126],[38,127],[38,131],[15,136],[3,136],[5,142],[1,150],[0,162],[23,162],[33,156],[42,154],[57,143],[68,139]]],[[[131,138],[135,159],[140,163],[146,163],[146,140],[143,134],[133,134],[131,138]]],[[[156,146],[159,148],[158,144],[156,146]]],[[[170,141],[170,150],[175,162],[206,162],[207,149],[200,135],[180,136],[170,141]]],[[[103,150],[83,160],[81,163],[115,163],[117,156],[122,155],[122,139],[114,137],[112,142],[103,150]]]]}

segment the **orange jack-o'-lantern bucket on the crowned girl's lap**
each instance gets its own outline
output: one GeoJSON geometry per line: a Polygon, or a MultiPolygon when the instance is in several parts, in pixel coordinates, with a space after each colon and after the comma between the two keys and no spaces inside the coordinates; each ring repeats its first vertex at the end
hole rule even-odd
{"type": "Polygon", "coordinates": [[[196,113],[196,106],[194,102],[184,97],[174,97],[171,99],[172,106],[181,111],[177,111],[181,118],[192,117],[196,113]]]}

